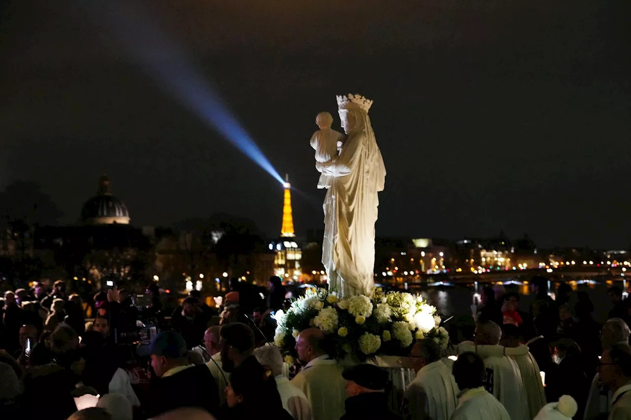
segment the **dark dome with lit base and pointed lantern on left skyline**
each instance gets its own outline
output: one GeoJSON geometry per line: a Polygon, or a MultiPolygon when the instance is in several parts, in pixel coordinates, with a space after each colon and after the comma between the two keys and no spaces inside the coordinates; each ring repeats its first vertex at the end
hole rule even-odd
{"type": "Polygon", "coordinates": [[[129,225],[129,211],[125,203],[110,192],[110,179],[103,175],[98,182],[98,192],[81,210],[84,225],[129,225]]]}

